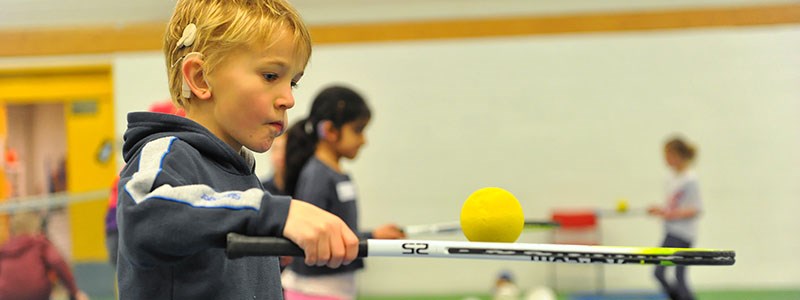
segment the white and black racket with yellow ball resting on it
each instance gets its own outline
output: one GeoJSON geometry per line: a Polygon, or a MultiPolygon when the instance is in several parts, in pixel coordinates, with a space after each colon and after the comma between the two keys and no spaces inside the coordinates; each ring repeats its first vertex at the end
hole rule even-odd
{"type": "MultiPolygon", "coordinates": [[[[228,234],[229,258],[244,256],[305,256],[303,249],[284,238],[228,234]]],[[[576,264],[733,265],[733,250],[702,248],[647,248],[559,244],[485,243],[426,240],[361,240],[359,257],[435,257],[521,260],[576,264]]]]}

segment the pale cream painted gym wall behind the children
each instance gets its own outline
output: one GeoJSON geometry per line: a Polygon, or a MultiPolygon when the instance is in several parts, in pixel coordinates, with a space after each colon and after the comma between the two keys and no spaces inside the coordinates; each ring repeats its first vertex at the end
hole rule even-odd
{"type": "MultiPolygon", "coordinates": [[[[660,203],[662,143],[699,146],[705,211],[699,247],[737,250],[735,267],[696,267],[697,289],[798,287],[800,26],[568,34],[351,45],[314,50],[292,120],[331,83],[361,91],[374,119],[347,164],[363,227],[456,220],[474,190],[515,193],[529,218],[554,208],[660,203]]],[[[166,97],[160,53],[113,59],[117,132],[124,112],[166,97]]],[[[258,172],[269,174],[266,155],[258,172]]],[[[655,246],[660,223],[606,219],[602,242],[655,246]]],[[[435,238],[461,239],[459,236],[435,238]]],[[[548,242],[547,232],[522,242],[548,242]]],[[[501,269],[523,287],[553,265],[371,258],[368,294],[486,291],[501,269]]],[[[559,267],[559,284],[591,288],[592,267],[559,267]],[[576,269],[577,268],[577,269],[576,269]],[[566,274],[566,275],[564,275],[566,274]]],[[[610,289],[655,289],[651,269],[608,266],[610,289]]]]}

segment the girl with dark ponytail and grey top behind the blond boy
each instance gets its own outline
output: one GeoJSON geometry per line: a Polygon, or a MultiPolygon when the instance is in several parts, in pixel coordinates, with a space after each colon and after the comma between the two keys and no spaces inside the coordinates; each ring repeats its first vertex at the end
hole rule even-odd
{"type": "MultiPolygon", "coordinates": [[[[286,192],[340,216],[353,231],[359,229],[358,197],[340,161],[356,158],[371,116],[361,95],[342,86],[328,87],[316,96],[308,117],[289,129],[286,143],[286,192]]],[[[405,235],[389,224],[360,236],[405,235]]],[[[361,259],[338,269],[292,262],[282,276],[285,298],[354,299],[355,271],[363,267],[361,259]]]]}

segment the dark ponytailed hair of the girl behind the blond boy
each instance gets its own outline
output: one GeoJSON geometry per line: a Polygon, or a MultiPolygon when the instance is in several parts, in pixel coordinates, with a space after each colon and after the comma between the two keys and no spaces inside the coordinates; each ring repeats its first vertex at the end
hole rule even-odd
{"type": "Polygon", "coordinates": [[[319,142],[320,122],[330,121],[334,128],[341,129],[344,124],[371,116],[372,112],[364,98],[350,88],[331,86],[317,94],[308,117],[294,123],[286,133],[286,193],[295,195],[300,172],[314,156],[319,142]]]}

